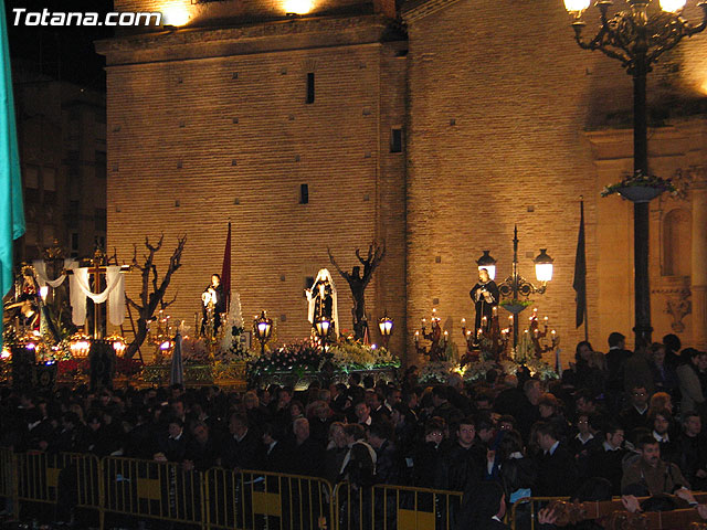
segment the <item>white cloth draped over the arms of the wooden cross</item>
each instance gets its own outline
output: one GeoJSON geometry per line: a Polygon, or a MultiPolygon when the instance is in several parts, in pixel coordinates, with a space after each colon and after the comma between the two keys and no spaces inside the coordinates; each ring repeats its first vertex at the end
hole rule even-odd
{"type": "Polygon", "coordinates": [[[106,288],[103,293],[91,290],[88,283],[88,267],[74,269],[70,280],[72,321],[83,326],[86,321],[86,297],[94,304],[108,300],[108,319],[114,326],[120,326],[125,320],[125,276],[120,274],[120,266],[106,267],[106,288]]]}

